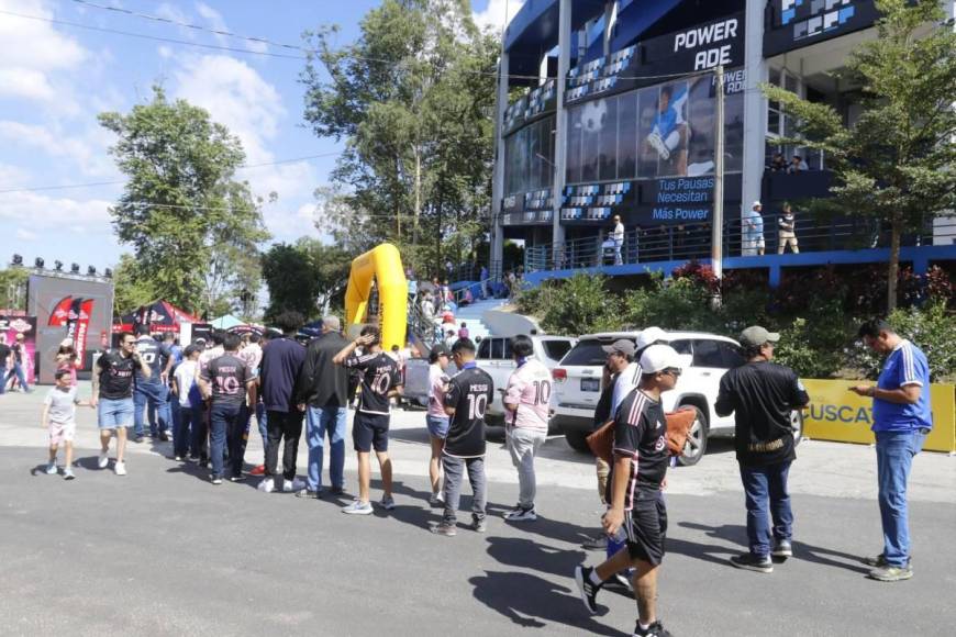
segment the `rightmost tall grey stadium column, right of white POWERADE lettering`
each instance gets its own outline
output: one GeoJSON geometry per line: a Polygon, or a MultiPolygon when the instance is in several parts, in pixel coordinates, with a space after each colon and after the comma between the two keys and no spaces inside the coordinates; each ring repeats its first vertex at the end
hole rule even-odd
{"type": "Polygon", "coordinates": [[[768,78],[767,63],[764,60],[765,4],[763,0],[747,0],[744,44],[744,68],[747,79],[744,92],[744,174],[738,212],[741,216],[751,209],[755,200],[760,198],[760,183],[764,179],[767,100],[758,85],[767,81],[768,78]]]}

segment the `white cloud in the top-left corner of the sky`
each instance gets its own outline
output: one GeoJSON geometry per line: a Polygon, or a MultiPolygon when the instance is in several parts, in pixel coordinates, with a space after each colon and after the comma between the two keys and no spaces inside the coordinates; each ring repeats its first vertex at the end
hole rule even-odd
{"type": "MultiPolygon", "coordinates": [[[[0,10],[51,19],[42,0],[0,0],[0,10]]],[[[60,112],[74,112],[76,100],[66,90],[74,71],[90,58],[74,37],[54,24],[0,14],[0,97],[43,102],[60,112]]]]}

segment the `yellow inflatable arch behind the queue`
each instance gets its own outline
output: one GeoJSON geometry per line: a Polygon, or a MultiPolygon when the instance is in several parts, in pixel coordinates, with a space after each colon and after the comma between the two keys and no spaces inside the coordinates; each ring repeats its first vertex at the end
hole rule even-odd
{"type": "Polygon", "coordinates": [[[381,346],[386,351],[392,345],[404,347],[409,283],[401,256],[392,244],[381,244],[353,259],[345,290],[346,332],[349,336],[357,336],[353,334],[354,326],[368,322],[366,314],[373,281],[378,283],[381,346]]]}

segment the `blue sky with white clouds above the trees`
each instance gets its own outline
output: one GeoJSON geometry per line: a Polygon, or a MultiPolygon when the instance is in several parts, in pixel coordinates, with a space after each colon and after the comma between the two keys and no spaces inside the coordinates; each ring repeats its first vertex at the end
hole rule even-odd
{"type": "MultiPolygon", "coordinates": [[[[300,44],[307,29],[335,23],[340,42],[358,34],[378,0],[89,0],[138,13],[300,44]]],[[[473,0],[479,23],[501,29],[522,0],[473,0]],[[493,26],[492,26],[493,25],[493,26]]],[[[332,139],[303,127],[303,60],[262,55],[296,54],[176,24],[126,15],[73,0],[0,0],[0,264],[14,253],[33,264],[43,257],[99,270],[124,252],[110,227],[108,206],[122,185],[60,190],[45,187],[122,181],[107,149],[113,136],[97,113],[121,112],[151,96],[160,81],[167,93],[212,113],[243,142],[248,164],[335,153],[332,139]],[[7,12],[7,13],[4,13],[7,12]],[[9,13],[42,20],[10,15],[9,13]],[[126,31],[241,52],[156,42],[62,23],[126,31]],[[257,53],[258,52],[258,53],[257,53]],[[5,191],[5,192],[4,192],[5,191]]],[[[319,236],[314,228],[318,186],[327,183],[335,157],[244,169],[266,204],[274,241],[319,236]]]]}

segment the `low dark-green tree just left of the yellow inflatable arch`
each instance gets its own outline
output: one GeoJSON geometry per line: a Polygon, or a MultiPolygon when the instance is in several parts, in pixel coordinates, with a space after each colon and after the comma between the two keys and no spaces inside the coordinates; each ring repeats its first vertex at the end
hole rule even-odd
{"type": "Polygon", "coordinates": [[[263,277],[269,289],[266,318],[285,310],[314,317],[320,304],[327,308],[341,302],[351,265],[344,249],[313,238],[274,245],[262,257],[263,277]]]}

